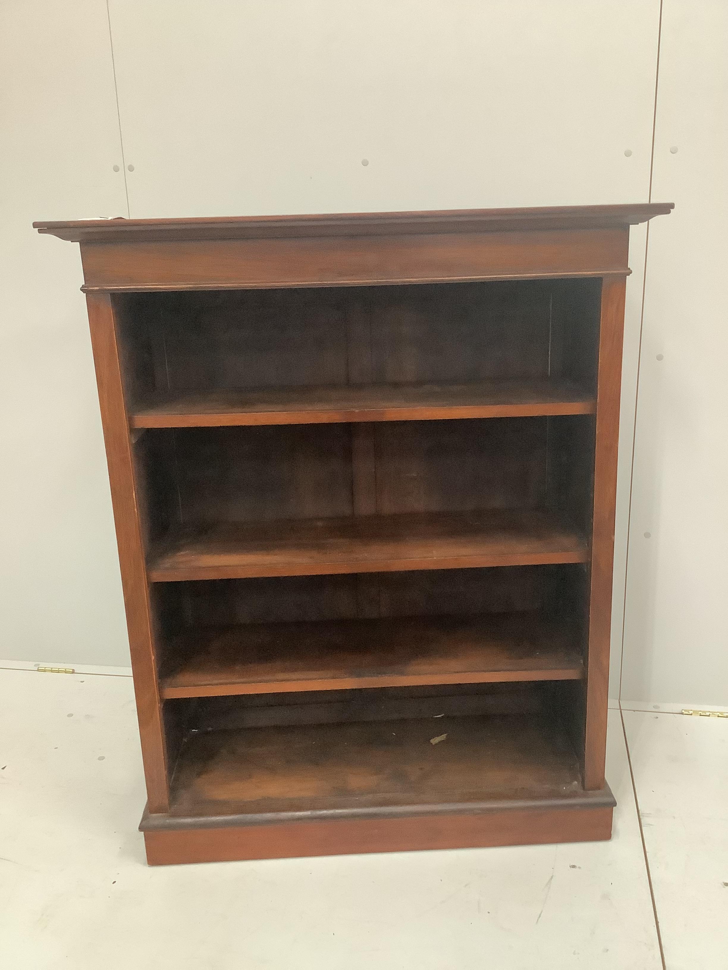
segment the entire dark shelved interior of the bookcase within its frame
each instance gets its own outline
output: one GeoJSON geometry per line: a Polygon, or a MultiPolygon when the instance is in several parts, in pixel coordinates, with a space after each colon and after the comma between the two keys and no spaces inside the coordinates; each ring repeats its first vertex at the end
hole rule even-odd
{"type": "Polygon", "coordinates": [[[173,811],[427,801],[471,768],[477,800],[516,762],[512,789],[579,785],[600,290],[115,298],[173,811]]]}

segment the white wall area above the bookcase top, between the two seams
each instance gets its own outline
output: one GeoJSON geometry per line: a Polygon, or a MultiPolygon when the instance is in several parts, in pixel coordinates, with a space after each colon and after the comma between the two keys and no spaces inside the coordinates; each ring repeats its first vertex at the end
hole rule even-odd
{"type": "Polygon", "coordinates": [[[134,216],[646,199],[659,0],[110,9],[134,216]]]}

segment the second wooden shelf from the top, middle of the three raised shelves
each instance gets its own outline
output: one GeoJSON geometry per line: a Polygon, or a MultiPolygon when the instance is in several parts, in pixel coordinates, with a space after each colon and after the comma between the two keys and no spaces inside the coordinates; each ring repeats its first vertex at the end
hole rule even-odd
{"type": "Polygon", "coordinates": [[[152,582],[583,563],[585,539],[536,509],[218,523],[173,530],[152,582]]]}

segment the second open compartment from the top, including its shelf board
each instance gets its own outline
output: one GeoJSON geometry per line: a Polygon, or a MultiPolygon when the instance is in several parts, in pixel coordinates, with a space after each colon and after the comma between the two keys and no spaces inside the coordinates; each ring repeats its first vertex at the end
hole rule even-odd
{"type": "Polygon", "coordinates": [[[149,432],[149,576],[584,562],[593,442],[591,415],[149,432]]]}

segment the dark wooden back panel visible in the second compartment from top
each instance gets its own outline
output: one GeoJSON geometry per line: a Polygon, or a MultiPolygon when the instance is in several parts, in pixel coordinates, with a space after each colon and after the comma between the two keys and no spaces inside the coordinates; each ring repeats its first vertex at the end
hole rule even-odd
{"type": "MultiPolygon", "coordinates": [[[[353,462],[352,426],[341,424],[152,431],[138,450],[148,469],[157,526],[538,508],[546,505],[549,476],[566,497],[562,504],[569,497],[578,501],[584,491],[579,453],[562,446],[549,471],[549,427],[554,451],[562,437],[573,439],[558,433],[560,422],[579,429],[590,420],[583,415],[358,426],[372,429],[373,446],[355,450],[353,462]],[[371,492],[368,504],[362,504],[363,490],[371,492]]],[[[582,500],[580,507],[572,517],[581,526],[582,500]]],[[[568,511],[571,515],[571,506],[568,511]]]]}

